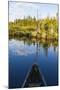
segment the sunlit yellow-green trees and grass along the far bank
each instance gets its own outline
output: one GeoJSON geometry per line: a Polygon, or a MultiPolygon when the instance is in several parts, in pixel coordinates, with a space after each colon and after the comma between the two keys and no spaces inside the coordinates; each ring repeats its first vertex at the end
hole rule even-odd
{"type": "Polygon", "coordinates": [[[58,40],[57,17],[46,17],[37,20],[35,17],[28,16],[9,22],[8,28],[9,36],[58,40]]]}

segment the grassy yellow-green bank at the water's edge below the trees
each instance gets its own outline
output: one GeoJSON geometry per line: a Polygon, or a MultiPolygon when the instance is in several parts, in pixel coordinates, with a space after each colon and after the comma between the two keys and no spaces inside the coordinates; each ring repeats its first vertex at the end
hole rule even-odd
{"type": "MultiPolygon", "coordinates": [[[[31,29],[31,28],[30,28],[31,29]]],[[[9,36],[19,36],[19,37],[27,37],[27,38],[42,38],[42,39],[58,39],[58,33],[54,32],[46,32],[45,30],[41,30],[39,32],[29,31],[29,30],[15,30],[9,32],[9,36]]]]}

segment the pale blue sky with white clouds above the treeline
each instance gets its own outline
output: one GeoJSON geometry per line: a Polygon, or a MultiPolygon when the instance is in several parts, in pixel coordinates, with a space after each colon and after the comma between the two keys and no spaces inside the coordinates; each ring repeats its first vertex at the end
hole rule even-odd
{"type": "Polygon", "coordinates": [[[45,18],[47,16],[56,16],[58,12],[58,5],[54,4],[37,4],[37,3],[22,3],[22,2],[9,2],[9,21],[24,18],[27,16],[37,18],[45,18]]]}

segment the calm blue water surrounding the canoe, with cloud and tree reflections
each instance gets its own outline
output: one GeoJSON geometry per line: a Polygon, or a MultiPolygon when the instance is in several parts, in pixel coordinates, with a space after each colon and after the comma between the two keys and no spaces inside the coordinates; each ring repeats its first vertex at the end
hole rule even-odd
{"type": "Polygon", "coordinates": [[[9,88],[20,88],[27,72],[38,64],[47,86],[58,85],[58,45],[38,40],[9,40],[9,88]]]}

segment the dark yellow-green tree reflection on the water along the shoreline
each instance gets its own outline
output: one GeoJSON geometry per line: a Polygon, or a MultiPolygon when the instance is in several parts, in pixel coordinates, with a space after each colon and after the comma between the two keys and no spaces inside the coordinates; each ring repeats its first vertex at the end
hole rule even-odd
{"type": "Polygon", "coordinates": [[[26,38],[26,37],[19,37],[19,36],[17,36],[17,37],[16,36],[14,36],[14,37],[10,36],[9,40],[10,39],[16,39],[19,41],[24,41],[24,44],[28,44],[28,45],[31,45],[31,44],[36,45],[37,41],[38,41],[39,47],[42,46],[44,48],[50,47],[51,44],[53,46],[58,46],[58,40],[53,41],[53,40],[46,40],[46,39],[39,39],[39,38],[38,39],[37,38],[26,38]]]}

